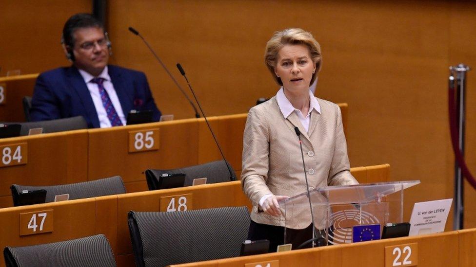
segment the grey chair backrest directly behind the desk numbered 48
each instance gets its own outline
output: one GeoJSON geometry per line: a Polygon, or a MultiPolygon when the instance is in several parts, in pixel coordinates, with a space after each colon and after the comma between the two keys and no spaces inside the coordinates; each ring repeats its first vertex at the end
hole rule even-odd
{"type": "MultiPolygon", "coordinates": [[[[236,177],[235,171],[231,168],[233,176],[236,177]]],[[[207,178],[207,183],[219,183],[219,182],[229,182],[230,172],[224,160],[212,161],[200,165],[184,167],[179,169],[170,169],[170,170],[154,170],[149,169],[145,172],[145,178],[147,179],[147,185],[149,190],[156,190],[154,186],[153,179],[158,179],[162,174],[185,174],[185,183],[184,186],[192,185],[192,182],[195,178],[207,178]]]]}

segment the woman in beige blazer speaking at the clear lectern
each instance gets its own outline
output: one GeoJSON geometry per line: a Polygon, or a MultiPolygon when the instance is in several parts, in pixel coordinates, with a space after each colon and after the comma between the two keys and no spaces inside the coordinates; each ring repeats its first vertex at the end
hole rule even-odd
{"type": "MultiPolygon", "coordinates": [[[[276,32],[266,45],[264,62],[283,88],[248,113],[241,182],[253,203],[248,238],[270,240],[269,251],[274,252],[285,241],[278,201],[306,192],[298,132],[310,190],[358,182],[349,171],[340,108],[309,90],[322,65],[319,43],[302,29],[276,32]]],[[[293,248],[312,236],[309,208],[307,212],[286,221],[286,243],[293,248]]],[[[315,218],[316,227],[322,219],[315,218]]]]}

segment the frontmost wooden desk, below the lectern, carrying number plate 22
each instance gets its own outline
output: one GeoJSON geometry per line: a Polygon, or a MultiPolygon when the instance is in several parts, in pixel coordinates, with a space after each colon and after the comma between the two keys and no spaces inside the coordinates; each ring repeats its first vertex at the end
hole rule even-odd
{"type": "MultiPolygon", "coordinates": [[[[474,234],[476,229],[467,230],[474,234]]],[[[213,261],[196,262],[181,265],[171,265],[171,267],[237,267],[246,266],[246,264],[255,263],[253,267],[260,263],[262,267],[268,266],[272,261],[278,262],[279,266],[299,266],[299,267],[384,267],[385,266],[385,247],[417,243],[418,267],[468,267],[466,265],[474,263],[473,259],[461,262],[461,254],[474,252],[474,246],[458,246],[458,240],[463,232],[451,231],[428,235],[419,235],[411,237],[400,237],[392,239],[383,239],[376,241],[367,241],[338,246],[319,247],[314,249],[292,250],[287,252],[268,253],[254,256],[237,257],[213,261]]],[[[470,239],[468,239],[470,240],[470,239]]],[[[472,237],[472,244],[475,239],[472,237]]],[[[470,244],[470,243],[468,243],[470,244]]],[[[416,253],[416,252],[415,252],[416,253]]],[[[414,254],[415,255],[415,254],[414,254]]],[[[403,254],[400,257],[402,261],[406,257],[403,254]]],[[[395,259],[392,258],[392,262],[395,259]]],[[[397,261],[398,262],[398,261],[397,261]]],[[[270,265],[275,267],[278,265],[270,265]]],[[[401,265],[410,266],[410,265],[401,265]]]]}

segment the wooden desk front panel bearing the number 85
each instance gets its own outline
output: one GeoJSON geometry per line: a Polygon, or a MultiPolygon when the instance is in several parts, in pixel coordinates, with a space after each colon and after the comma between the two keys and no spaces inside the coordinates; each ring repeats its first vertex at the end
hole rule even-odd
{"type": "Polygon", "coordinates": [[[197,160],[197,119],[89,130],[89,180],[119,175],[126,183],[145,181],[146,169],[196,165],[197,160]],[[142,132],[139,147],[150,144],[147,132],[156,132],[153,138],[158,149],[129,152],[129,145],[138,140],[130,135],[138,131],[142,132]]]}

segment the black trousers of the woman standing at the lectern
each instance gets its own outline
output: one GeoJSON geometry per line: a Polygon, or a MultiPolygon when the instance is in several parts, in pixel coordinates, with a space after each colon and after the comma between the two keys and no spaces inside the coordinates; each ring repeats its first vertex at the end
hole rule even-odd
{"type": "MultiPolygon", "coordinates": [[[[309,225],[304,229],[286,228],[286,242],[284,242],[284,227],[274,226],[269,224],[256,223],[251,220],[250,229],[248,231],[248,239],[255,241],[260,239],[269,240],[269,252],[276,252],[278,245],[293,244],[293,249],[297,249],[299,245],[313,237],[313,225],[309,225]]],[[[319,231],[317,231],[319,233],[319,231]]],[[[311,248],[312,243],[309,243],[305,248],[311,248]]]]}

